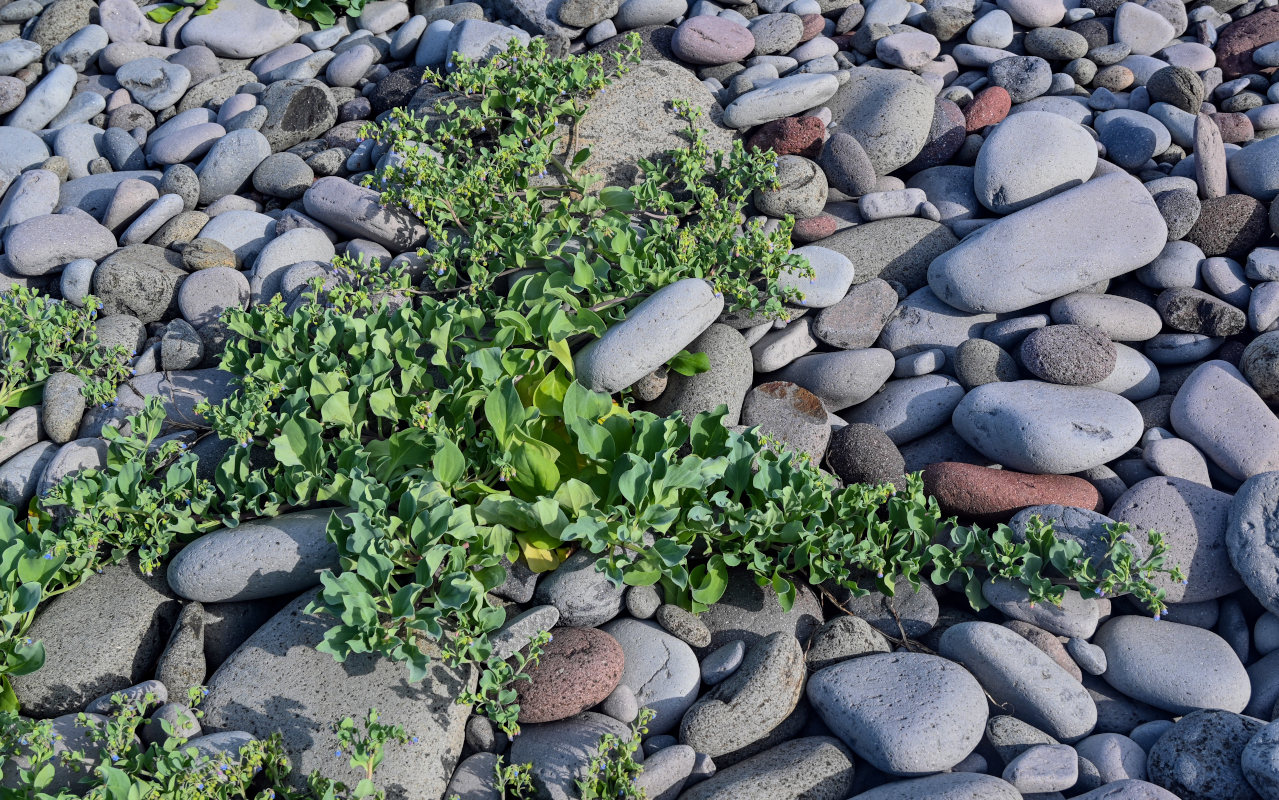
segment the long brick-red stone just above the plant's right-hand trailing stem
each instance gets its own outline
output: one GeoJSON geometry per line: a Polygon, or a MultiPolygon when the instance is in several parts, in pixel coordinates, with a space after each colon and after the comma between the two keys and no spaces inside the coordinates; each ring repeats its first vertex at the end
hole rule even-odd
{"type": "Polygon", "coordinates": [[[1028,506],[1101,511],[1101,493],[1071,475],[1027,475],[943,461],[923,470],[923,489],[938,498],[943,512],[984,525],[1007,522],[1028,506]]]}

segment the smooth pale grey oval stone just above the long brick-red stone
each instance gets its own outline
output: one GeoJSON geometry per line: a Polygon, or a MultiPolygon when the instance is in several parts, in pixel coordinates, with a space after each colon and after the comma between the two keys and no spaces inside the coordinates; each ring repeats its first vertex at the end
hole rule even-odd
{"type": "Polygon", "coordinates": [[[1055,475],[1113,461],[1145,430],[1141,412],[1118,394],[1037,380],[977,387],[952,421],[968,444],[1005,467],[1055,475]]]}

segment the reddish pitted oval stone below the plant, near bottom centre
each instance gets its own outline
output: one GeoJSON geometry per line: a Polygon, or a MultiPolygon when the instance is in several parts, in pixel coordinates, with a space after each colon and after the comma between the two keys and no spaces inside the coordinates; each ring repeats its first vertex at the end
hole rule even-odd
{"type": "Polygon", "coordinates": [[[613,636],[593,627],[558,627],[541,659],[515,684],[521,722],[555,722],[581,714],[622,682],[627,657],[613,636]]]}

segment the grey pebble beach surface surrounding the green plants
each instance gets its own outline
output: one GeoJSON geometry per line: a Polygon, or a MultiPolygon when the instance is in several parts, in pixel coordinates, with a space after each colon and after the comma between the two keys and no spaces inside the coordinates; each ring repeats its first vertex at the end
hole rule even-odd
{"type": "Polygon", "coordinates": [[[301,511],[50,602],[23,714],[73,739],[104,695],[151,690],[171,701],[150,737],[279,731],[299,773],[336,777],[329,722],[377,707],[418,736],[379,769],[396,800],[500,800],[499,756],[576,797],[643,708],[652,800],[1279,800],[1275,0],[372,0],[329,28],[257,0],[151,8],[0,0],[0,292],[92,294],[98,337],[136,353],[114,407],[64,375],[0,422],[4,502],[102,466],[142,398],[179,422],[233,392],[224,310],[297,302],[339,253],[412,268],[425,228],[359,186],[390,157],[359,131],[430,109],[425,70],[634,31],[642,63],[578,124],[588,169],[625,184],[691,101],[712,147],[778,154],[751,212],[792,216],[815,274],[783,278],[803,294],[785,321],[670,284],[576,352],[579,380],[660,413],[725,404],[849,484],[922,471],[948,515],[1019,536],[1039,516],[1086,554],[1113,521],[1138,550],[1154,529],[1186,580],[1152,618],[1001,580],[982,612],[908,582],[801,586],[783,611],[737,573],[693,616],[582,553],[514,564],[496,646],[554,639],[509,740],[439,659],[409,685],[315,649],[331,620],[304,608],[338,553],[331,509],[301,511]],[[683,349],[710,370],[666,374],[683,349]]]}

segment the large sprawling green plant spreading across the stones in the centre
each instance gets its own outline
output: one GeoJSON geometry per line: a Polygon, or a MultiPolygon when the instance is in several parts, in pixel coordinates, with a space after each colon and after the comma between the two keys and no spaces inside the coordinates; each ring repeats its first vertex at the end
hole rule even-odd
{"type": "MultiPolygon", "coordinates": [[[[633,37],[614,69],[637,50],[633,37]]],[[[143,456],[162,421],[148,404],[132,433],[110,434],[105,470],[36,500],[26,531],[0,525],[19,556],[67,559],[46,582],[18,568],[19,584],[45,596],[133,549],[153,566],[174,536],[348,507],[327,527],[340,571],[311,607],[335,622],[321,649],[339,660],[381,653],[420,680],[422,645],[435,641],[450,662],[481,667],[480,689],[460,700],[508,732],[523,662],[494,653],[506,613],[490,593],[519,559],[545,572],[587,552],[615,584],[660,584],[693,612],[723,596],[730,570],[787,608],[799,584],[891,593],[898,577],[955,581],[980,605],[986,572],[1024,582],[1033,600],[1059,600],[1064,577],[1163,607],[1150,582],[1164,568],[1157,535],[1140,561],[1117,536],[1102,567],[1046,526],[1021,544],[1003,526],[953,526],[918,476],[903,489],[840,488],[756,430],[725,428],[723,407],[661,417],[576,380],[574,346],[673,283],[709,282],[729,311],[761,319],[801,300],[784,287],[812,273],[789,251],[789,224],[765,230],[743,212],[776,166],[741,145],[712,155],[689,124],[688,147],[645,161],[632,187],[592,195],[573,123],[608,83],[604,59],[554,60],[541,42],[489,64],[455,58],[434,115],[396,111],[370,129],[386,154],[371,180],[431,236],[421,287],[339,260],[292,303],[230,310],[221,369],[240,392],[200,408],[230,444],[212,484],[175,442],[143,456]]],[[[15,563],[0,562],[0,580],[15,563]]],[[[19,668],[33,657],[9,643],[29,605],[0,643],[19,668]]]]}

